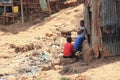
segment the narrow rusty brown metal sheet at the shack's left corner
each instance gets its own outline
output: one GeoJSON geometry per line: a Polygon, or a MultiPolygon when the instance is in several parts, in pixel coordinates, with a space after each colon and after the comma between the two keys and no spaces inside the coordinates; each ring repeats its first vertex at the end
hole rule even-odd
{"type": "Polygon", "coordinates": [[[88,0],[88,4],[85,5],[85,26],[91,35],[91,45],[95,53],[95,57],[99,56],[99,49],[101,49],[101,30],[99,27],[98,14],[99,0],[88,0]]]}

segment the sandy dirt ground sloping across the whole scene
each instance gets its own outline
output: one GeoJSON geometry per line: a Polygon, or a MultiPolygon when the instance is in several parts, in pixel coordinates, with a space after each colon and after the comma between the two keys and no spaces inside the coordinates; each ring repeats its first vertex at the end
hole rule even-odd
{"type": "MultiPolygon", "coordinates": [[[[61,33],[72,31],[73,37],[76,36],[75,31],[79,27],[79,21],[83,19],[83,10],[83,4],[69,7],[36,25],[32,23],[26,23],[24,26],[19,23],[11,26],[0,25],[0,80],[67,80],[62,78],[120,80],[120,57],[95,59],[89,64],[84,63],[83,60],[67,65],[54,63],[54,68],[38,70],[35,73],[29,72],[29,68],[38,69],[39,65],[32,64],[32,67],[27,65],[29,61],[27,62],[26,59],[31,62],[30,57],[36,50],[35,47],[26,48],[26,46],[37,46],[41,51],[49,52],[52,59],[58,61],[59,58],[56,56],[62,54],[62,46],[65,43],[61,33]]],[[[39,58],[35,57],[35,59],[39,58]]]]}

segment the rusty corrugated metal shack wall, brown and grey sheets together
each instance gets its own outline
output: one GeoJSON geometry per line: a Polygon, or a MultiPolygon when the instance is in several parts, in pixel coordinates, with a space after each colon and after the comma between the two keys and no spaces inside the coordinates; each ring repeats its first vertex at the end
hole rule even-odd
{"type": "Polygon", "coordinates": [[[92,22],[91,37],[95,56],[98,57],[98,51],[102,49],[109,51],[110,56],[120,55],[120,1],[87,0],[87,2],[85,22],[86,26],[92,22]],[[89,3],[92,3],[92,7],[89,3]],[[92,11],[92,21],[88,19],[89,7],[92,11]]]}

